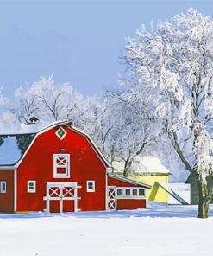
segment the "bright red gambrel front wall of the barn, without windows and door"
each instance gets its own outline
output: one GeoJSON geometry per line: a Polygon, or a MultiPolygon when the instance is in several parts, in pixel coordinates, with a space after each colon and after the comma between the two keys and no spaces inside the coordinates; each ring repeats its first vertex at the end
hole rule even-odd
{"type": "MultiPolygon", "coordinates": [[[[63,140],[55,135],[59,127],[35,138],[17,170],[17,211],[42,211],[46,208],[47,182],[78,182],[78,208],[82,211],[105,209],[105,166],[88,140],[63,125],[63,140]],[[66,150],[60,152],[60,148],[66,150]],[[53,178],[53,154],[70,154],[71,178],[53,178]],[[27,193],[28,180],[36,181],[36,193],[27,193]],[[86,192],[86,181],[96,182],[95,192],[86,192]]],[[[56,203],[57,204],[57,203],[56,203]]],[[[57,208],[58,206],[56,206],[57,208]]],[[[66,207],[67,208],[67,207],[66,207]]]]}

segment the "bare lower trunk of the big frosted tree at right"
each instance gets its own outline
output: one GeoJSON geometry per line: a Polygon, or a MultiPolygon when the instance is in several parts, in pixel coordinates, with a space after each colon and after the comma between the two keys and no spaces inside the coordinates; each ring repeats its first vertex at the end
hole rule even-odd
{"type": "Polygon", "coordinates": [[[198,192],[199,192],[199,204],[198,204],[198,218],[208,218],[209,217],[209,205],[210,198],[208,196],[207,183],[198,182],[198,192]]]}

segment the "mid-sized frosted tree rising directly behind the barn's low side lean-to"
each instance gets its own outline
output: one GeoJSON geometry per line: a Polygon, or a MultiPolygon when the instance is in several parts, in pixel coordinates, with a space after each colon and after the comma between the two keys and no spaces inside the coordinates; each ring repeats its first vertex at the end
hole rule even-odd
{"type": "Polygon", "coordinates": [[[110,99],[109,118],[114,124],[110,131],[114,142],[110,142],[114,155],[112,164],[120,166],[123,176],[128,177],[136,157],[146,153],[160,130],[145,100],[141,100],[142,94],[135,88],[109,92],[107,97],[110,99]]]}

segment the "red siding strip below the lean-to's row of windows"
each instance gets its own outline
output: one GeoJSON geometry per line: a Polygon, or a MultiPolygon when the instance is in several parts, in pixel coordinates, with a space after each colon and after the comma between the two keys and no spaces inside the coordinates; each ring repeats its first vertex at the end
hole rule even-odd
{"type": "Polygon", "coordinates": [[[118,199],[117,209],[118,210],[128,210],[128,209],[138,209],[146,208],[145,199],[118,199]]]}

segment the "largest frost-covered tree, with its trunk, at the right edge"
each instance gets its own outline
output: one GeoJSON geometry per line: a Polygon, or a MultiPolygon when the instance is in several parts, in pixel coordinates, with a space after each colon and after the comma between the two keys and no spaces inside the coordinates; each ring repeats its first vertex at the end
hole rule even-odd
{"type": "Polygon", "coordinates": [[[198,217],[206,218],[213,193],[213,21],[190,9],[151,27],[128,39],[123,60],[185,169],[197,176],[198,217]]]}

